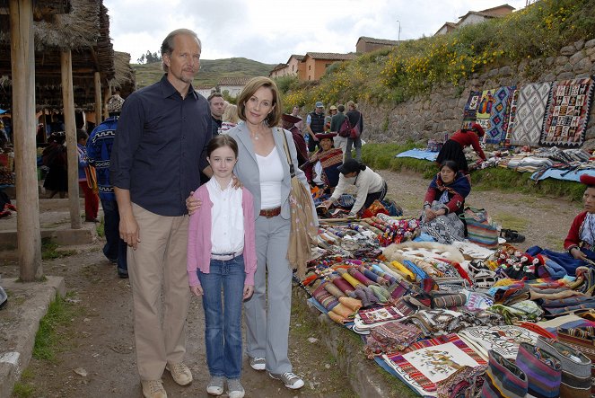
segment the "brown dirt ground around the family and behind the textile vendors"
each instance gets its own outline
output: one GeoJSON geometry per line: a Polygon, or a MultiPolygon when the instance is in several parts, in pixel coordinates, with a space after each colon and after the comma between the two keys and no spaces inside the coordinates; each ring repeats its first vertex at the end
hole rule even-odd
{"type": "MultiPolygon", "coordinates": [[[[389,182],[389,197],[407,216],[417,216],[429,181],[414,173],[381,172],[389,182]]],[[[538,198],[516,193],[473,190],[468,206],[486,208],[503,227],[525,234],[521,249],[538,244],[559,249],[573,217],[581,205],[564,199],[538,198]]],[[[46,275],[66,279],[67,305],[74,309],[70,322],[60,324],[61,342],[54,360],[31,359],[22,383],[34,385],[33,397],[139,397],[142,396],[134,355],[130,286],[118,279],[115,266],[101,253],[102,243],[87,251],[44,261],[46,275]],[[74,369],[83,368],[87,376],[74,369]]],[[[3,278],[18,276],[18,264],[0,262],[3,278]]],[[[296,287],[297,288],[297,287],[296,287]]],[[[295,295],[294,295],[295,297],[295,295]]],[[[298,391],[284,388],[264,372],[256,372],[244,361],[242,384],[250,397],[352,397],[346,376],[322,345],[319,329],[302,300],[294,300],[290,356],[294,372],[306,385],[298,391]]],[[[203,310],[193,298],[188,314],[187,363],[195,381],[188,387],[175,385],[163,375],[171,397],[206,397],[208,372],[203,341],[203,310]]],[[[379,369],[379,371],[381,371],[379,369]]],[[[396,381],[397,382],[397,381],[396,381]]],[[[398,383],[398,382],[397,382],[398,383]]],[[[224,396],[224,395],[223,395],[224,396]]]]}

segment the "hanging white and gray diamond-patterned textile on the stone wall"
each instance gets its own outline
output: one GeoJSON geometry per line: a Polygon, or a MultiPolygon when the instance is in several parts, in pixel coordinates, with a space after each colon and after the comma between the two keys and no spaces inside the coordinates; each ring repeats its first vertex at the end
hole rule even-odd
{"type": "Polygon", "coordinates": [[[516,115],[508,128],[512,145],[538,145],[551,89],[551,83],[533,83],[517,90],[516,115]]]}

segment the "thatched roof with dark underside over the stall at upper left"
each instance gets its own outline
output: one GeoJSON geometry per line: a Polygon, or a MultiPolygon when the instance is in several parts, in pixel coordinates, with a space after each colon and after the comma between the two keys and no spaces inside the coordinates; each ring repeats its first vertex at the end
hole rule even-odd
{"type": "MultiPolygon", "coordinates": [[[[108,9],[102,0],[37,0],[34,3],[38,108],[63,108],[60,71],[60,53],[63,50],[72,51],[74,105],[78,109],[91,110],[94,107],[94,72],[100,72],[102,87],[122,85],[131,80],[130,72],[125,71],[123,66],[120,68],[125,75],[122,83],[116,76],[114,49],[109,39],[108,9]],[[59,13],[64,11],[68,13],[59,13]]],[[[8,0],[0,0],[0,108],[3,109],[10,109],[12,102],[7,13],[8,0]],[[4,84],[1,83],[3,75],[8,76],[4,77],[4,84]]]]}

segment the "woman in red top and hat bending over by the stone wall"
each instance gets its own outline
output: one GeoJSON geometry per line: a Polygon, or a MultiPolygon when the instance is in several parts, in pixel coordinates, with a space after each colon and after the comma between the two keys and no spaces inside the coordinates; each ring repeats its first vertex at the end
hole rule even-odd
{"type": "Polygon", "coordinates": [[[486,155],[484,154],[484,151],[481,150],[481,146],[479,146],[479,137],[484,137],[485,134],[486,131],[484,131],[484,128],[477,123],[472,123],[469,128],[459,129],[459,131],[454,133],[452,137],[444,143],[440,153],[438,153],[436,163],[442,164],[445,160],[452,160],[459,166],[459,171],[468,174],[469,168],[463,149],[465,149],[466,146],[473,146],[477,156],[486,161],[486,155]]]}

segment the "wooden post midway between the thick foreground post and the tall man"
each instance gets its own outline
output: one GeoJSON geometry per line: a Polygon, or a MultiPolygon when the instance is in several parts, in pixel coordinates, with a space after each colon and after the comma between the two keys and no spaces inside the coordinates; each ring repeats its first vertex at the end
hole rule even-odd
{"type": "Polygon", "coordinates": [[[60,52],[62,68],[62,102],[66,126],[66,157],[68,159],[68,201],[70,227],[81,228],[81,205],[78,199],[78,151],[76,149],[76,123],[74,121],[73,56],[71,51],[60,52]]]}

